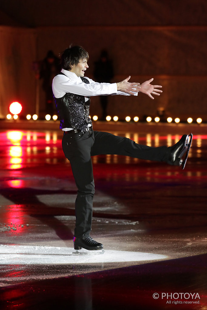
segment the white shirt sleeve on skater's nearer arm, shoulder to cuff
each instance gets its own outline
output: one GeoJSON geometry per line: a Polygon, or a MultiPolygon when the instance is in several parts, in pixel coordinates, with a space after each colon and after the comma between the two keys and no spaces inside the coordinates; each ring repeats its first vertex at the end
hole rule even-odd
{"type": "Polygon", "coordinates": [[[89,84],[81,80],[72,80],[64,75],[57,75],[52,81],[52,91],[56,98],[61,98],[65,93],[72,93],[82,96],[116,95],[116,83],[97,83],[87,78],[89,84]]]}

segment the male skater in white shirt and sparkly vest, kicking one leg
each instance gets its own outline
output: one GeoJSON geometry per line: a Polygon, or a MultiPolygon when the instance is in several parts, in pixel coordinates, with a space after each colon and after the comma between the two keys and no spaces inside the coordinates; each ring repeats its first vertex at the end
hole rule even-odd
{"type": "Polygon", "coordinates": [[[74,249],[101,250],[103,245],[90,237],[94,180],[91,156],[118,154],[146,160],[167,162],[180,166],[186,152],[188,135],[173,147],[157,148],[136,144],[134,141],[107,132],[92,130],[89,118],[90,96],[137,95],[142,92],[154,99],[160,95],[160,85],[151,85],[153,78],[142,83],[130,83],[130,76],[119,83],[98,83],[84,78],[88,68],[88,52],[80,46],[67,48],[61,56],[61,73],[52,82],[60,128],[64,131],[62,148],[71,164],[78,188],[75,201],[76,223],[74,249]]]}

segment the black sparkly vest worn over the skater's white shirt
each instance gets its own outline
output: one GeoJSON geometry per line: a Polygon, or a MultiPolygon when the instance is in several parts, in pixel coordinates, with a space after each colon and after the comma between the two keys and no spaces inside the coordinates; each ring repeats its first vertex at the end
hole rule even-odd
{"type": "MultiPolygon", "coordinates": [[[[60,74],[64,73],[61,72],[60,74]]],[[[89,84],[87,78],[81,77],[81,80],[89,84]]],[[[66,93],[61,98],[55,98],[54,96],[54,99],[60,118],[60,129],[74,128],[85,131],[88,124],[92,125],[89,118],[90,99],[85,102],[84,96],[71,93],[66,93]]]]}

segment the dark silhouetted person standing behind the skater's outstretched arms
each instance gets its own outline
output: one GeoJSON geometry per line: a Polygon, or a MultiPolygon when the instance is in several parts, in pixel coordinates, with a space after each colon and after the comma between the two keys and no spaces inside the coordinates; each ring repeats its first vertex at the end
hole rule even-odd
{"type": "MultiPolygon", "coordinates": [[[[110,83],[114,77],[112,61],[108,58],[106,50],[101,51],[100,59],[94,64],[94,79],[99,83],[110,83]]],[[[102,120],[106,120],[108,96],[100,96],[102,120]]]]}

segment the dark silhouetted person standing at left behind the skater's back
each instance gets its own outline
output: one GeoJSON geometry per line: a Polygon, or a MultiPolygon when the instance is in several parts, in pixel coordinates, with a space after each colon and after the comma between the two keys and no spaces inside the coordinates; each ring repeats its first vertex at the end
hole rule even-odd
{"type": "Polygon", "coordinates": [[[60,60],[53,51],[48,51],[47,56],[40,65],[39,78],[43,79],[43,90],[46,96],[45,111],[52,115],[54,110],[54,100],[52,93],[52,80],[60,72],[60,60]]]}

